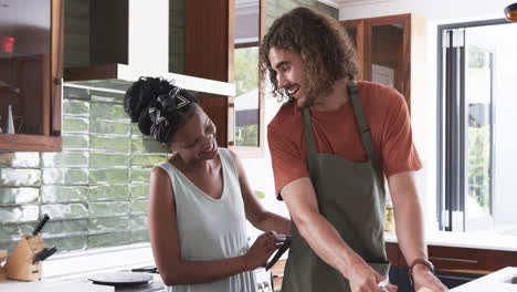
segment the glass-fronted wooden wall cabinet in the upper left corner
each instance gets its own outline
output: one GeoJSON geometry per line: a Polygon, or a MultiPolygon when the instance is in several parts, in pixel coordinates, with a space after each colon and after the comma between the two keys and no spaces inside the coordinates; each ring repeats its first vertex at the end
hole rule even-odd
{"type": "Polygon", "coordinates": [[[0,7],[0,150],[61,150],[63,0],[0,7]]]}

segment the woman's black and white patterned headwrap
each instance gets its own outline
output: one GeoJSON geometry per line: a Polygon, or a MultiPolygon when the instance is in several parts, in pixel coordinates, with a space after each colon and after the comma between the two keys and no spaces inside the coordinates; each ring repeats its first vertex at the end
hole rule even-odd
{"type": "Polygon", "coordinates": [[[169,124],[175,123],[172,112],[190,104],[190,101],[180,94],[180,87],[173,87],[168,94],[158,95],[155,104],[149,107],[149,117],[152,121],[150,134],[160,143],[170,142],[169,124]]]}

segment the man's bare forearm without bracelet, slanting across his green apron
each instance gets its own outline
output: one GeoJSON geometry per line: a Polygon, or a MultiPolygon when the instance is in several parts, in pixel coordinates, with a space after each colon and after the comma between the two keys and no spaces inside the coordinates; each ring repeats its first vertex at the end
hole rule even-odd
{"type": "Polygon", "coordinates": [[[321,215],[313,212],[295,220],[300,234],[326,263],[349,278],[350,267],[362,259],[342,240],[336,228],[321,215]]]}

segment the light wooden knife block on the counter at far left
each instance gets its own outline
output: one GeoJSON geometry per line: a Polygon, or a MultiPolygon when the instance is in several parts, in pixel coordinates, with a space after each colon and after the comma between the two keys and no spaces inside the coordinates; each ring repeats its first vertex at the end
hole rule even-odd
{"type": "Polygon", "coordinates": [[[12,251],[6,263],[7,277],[13,280],[40,280],[42,274],[41,261],[32,263],[34,255],[45,248],[40,237],[24,236],[12,251]]]}

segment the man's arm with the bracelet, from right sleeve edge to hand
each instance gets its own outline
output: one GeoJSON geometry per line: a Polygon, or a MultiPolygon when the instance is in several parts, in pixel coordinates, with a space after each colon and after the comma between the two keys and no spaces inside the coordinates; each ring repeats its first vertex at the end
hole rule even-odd
{"type": "MultiPolygon", "coordinates": [[[[397,238],[408,264],[415,259],[428,259],[423,234],[423,217],[414,181],[414,171],[394,174],[388,178],[393,201],[397,238]]],[[[423,264],[413,269],[415,290],[426,286],[436,292],[447,291],[423,264]]]]}

